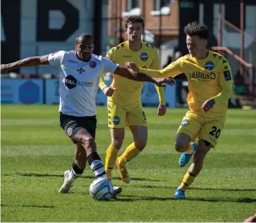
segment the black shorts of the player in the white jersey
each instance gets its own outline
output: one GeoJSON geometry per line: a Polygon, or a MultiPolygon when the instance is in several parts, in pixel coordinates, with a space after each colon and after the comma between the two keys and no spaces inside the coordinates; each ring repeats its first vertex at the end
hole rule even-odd
{"type": "Polygon", "coordinates": [[[60,124],[68,137],[74,142],[74,135],[79,130],[87,130],[95,139],[96,133],[96,116],[76,117],[60,113],[60,124]]]}

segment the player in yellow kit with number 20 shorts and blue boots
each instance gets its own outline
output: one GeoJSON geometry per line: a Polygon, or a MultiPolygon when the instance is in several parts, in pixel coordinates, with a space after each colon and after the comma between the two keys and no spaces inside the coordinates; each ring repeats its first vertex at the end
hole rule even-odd
{"type": "Polygon", "coordinates": [[[231,67],[226,58],[207,50],[210,30],[204,24],[188,24],[184,29],[189,54],[172,62],[163,70],[150,70],[128,62],[133,71],[151,77],[176,77],[185,73],[188,77],[189,110],[177,130],[175,148],[182,152],[179,165],[184,167],[191,157],[181,185],[176,189],[176,199],[186,199],[185,190],[203,167],[204,157],[215,147],[226,120],[228,99],[232,94],[231,67]],[[198,144],[190,141],[198,136],[198,144]]]}

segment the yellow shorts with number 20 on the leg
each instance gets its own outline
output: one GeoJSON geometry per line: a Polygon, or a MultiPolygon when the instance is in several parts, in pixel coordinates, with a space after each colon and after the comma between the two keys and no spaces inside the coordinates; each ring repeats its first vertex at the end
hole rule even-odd
{"type": "Polygon", "coordinates": [[[221,130],[226,121],[226,114],[211,115],[198,114],[188,111],[182,119],[182,124],[177,130],[178,133],[187,134],[193,139],[198,135],[200,140],[210,142],[215,147],[221,135],[221,130]]]}

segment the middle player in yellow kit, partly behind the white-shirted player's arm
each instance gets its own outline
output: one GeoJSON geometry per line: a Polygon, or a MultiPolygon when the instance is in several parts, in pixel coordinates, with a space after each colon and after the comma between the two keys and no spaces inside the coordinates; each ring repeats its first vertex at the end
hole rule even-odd
{"type": "MultiPolygon", "coordinates": [[[[155,47],[141,41],[144,19],[140,16],[128,17],[125,22],[125,33],[128,40],[109,50],[106,57],[123,66],[126,61],[134,61],[144,68],[160,69],[155,47]]],[[[112,168],[116,164],[125,183],[130,182],[125,164],[144,149],[148,138],[146,116],[140,100],[143,84],[114,74],[111,87],[107,87],[103,75],[101,76],[100,88],[108,96],[108,126],[112,136],[112,143],[106,150],[106,174],[108,178],[112,178],[112,168]],[[133,143],[126,148],[122,156],[117,158],[117,153],[123,145],[125,126],[133,134],[133,143]]],[[[164,88],[157,86],[155,88],[160,100],[157,114],[164,115],[166,113],[164,88]]]]}

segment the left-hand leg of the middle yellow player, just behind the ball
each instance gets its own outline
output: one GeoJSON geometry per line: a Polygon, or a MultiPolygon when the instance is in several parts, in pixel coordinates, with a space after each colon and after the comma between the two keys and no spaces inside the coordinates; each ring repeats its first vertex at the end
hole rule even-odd
{"type": "Polygon", "coordinates": [[[124,128],[111,128],[112,144],[106,150],[105,168],[107,178],[112,178],[112,169],[117,162],[117,154],[123,145],[124,128]]]}

